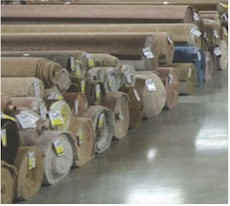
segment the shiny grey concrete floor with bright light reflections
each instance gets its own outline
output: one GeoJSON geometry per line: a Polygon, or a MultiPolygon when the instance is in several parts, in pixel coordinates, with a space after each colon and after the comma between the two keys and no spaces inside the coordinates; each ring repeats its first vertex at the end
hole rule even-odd
{"type": "Polygon", "coordinates": [[[26,203],[227,203],[227,72],[26,203]]]}

